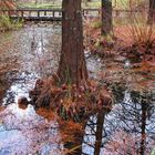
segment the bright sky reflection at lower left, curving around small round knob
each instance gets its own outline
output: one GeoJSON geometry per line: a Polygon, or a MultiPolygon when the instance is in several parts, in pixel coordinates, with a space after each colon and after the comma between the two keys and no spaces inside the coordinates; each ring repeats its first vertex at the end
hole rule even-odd
{"type": "MultiPolygon", "coordinates": [[[[28,155],[39,151],[41,155],[51,151],[62,149],[58,123],[53,118],[48,122],[35,113],[32,105],[25,110],[17,104],[20,97],[29,99],[29,91],[33,89],[37,74],[21,73],[12,83],[3,99],[7,108],[0,113],[0,155],[28,155]],[[33,148],[34,147],[34,148],[33,148]]],[[[56,152],[55,155],[60,153],[56,152]]],[[[53,154],[54,155],[54,154],[53,154]]]]}

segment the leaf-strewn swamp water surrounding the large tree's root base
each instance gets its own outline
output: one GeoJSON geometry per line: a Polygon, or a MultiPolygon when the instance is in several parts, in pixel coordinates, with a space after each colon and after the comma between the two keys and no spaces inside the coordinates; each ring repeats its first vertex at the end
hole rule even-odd
{"type": "MultiPolygon", "coordinates": [[[[6,81],[0,97],[0,155],[64,154],[63,132],[56,116],[38,112],[32,105],[18,105],[20,97],[29,99],[38,78],[56,71],[60,30],[61,25],[32,24],[0,34],[0,84],[6,81]]],[[[87,54],[86,58],[90,75],[108,83],[115,104],[110,113],[101,112],[87,120],[76,154],[149,155],[155,147],[154,71],[145,74],[145,82],[141,83],[135,79],[142,80],[144,75],[135,75],[128,61],[101,62],[87,54]],[[145,91],[140,89],[143,86],[145,91]]]]}

